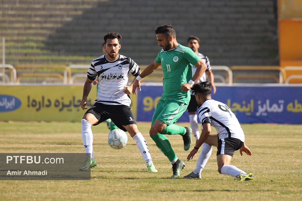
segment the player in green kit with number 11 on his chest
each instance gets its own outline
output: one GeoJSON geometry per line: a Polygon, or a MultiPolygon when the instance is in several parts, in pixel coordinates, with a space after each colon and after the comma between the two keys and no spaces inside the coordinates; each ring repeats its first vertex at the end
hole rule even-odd
{"type": "Polygon", "coordinates": [[[150,137],[156,146],[168,157],[172,163],[172,178],[179,177],[185,163],[177,158],[167,135],[179,134],[184,141],[184,149],[187,151],[192,145],[192,129],[174,124],[186,111],[190,101],[190,89],[206,70],[206,64],[196,55],[191,48],[182,46],[176,41],[176,33],[171,24],[164,24],[155,30],[158,45],[162,47],[155,61],[150,64],[133,84],[133,94],[136,88],[140,88],[143,77],[151,74],[162,65],[163,94],[154,111],[150,137]],[[192,77],[192,64],[197,70],[192,77]]]}

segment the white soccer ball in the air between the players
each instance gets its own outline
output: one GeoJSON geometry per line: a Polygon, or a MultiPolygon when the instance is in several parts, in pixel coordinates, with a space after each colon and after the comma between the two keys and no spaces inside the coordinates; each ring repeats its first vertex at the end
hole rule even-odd
{"type": "Polygon", "coordinates": [[[113,149],[122,149],[124,146],[126,146],[128,137],[123,130],[114,129],[108,134],[107,140],[109,146],[111,146],[113,149]]]}

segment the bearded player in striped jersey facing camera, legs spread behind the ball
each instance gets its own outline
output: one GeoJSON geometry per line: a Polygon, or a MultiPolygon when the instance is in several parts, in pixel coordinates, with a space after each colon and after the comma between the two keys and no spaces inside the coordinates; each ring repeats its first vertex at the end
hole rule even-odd
{"type": "MultiPolygon", "coordinates": [[[[87,96],[91,90],[91,83],[95,78],[98,81],[98,98],[95,104],[89,108],[82,118],[82,140],[87,153],[87,159],[80,171],[88,170],[97,165],[93,149],[93,135],[91,126],[98,125],[106,119],[111,119],[121,130],[128,131],[135,140],[149,172],[157,172],[146,143],[145,138],[137,129],[137,124],[131,111],[129,94],[132,92],[133,82],[128,86],[128,76],[131,73],[137,77],[140,67],[131,59],[118,52],[120,50],[120,39],[117,32],[111,32],[104,36],[107,54],[92,61],[87,72],[87,80],[84,84],[82,109],[87,104],[87,96]]],[[[134,78],[135,79],[135,78],[134,78]]],[[[134,81],[134,80],[133,80],[134,81]]]]}

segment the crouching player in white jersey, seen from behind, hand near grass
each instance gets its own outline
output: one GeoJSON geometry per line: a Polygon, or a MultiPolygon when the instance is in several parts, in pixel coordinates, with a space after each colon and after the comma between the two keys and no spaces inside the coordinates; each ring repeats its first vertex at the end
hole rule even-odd
{"type": "Polygon", "coordinates": [[[202,144],[203,146],[195,170],[184,178],[201,178],[201,171],[210,158],[212,146],[216,146],[217,165],[220,174],[231,175],[240,181],[253,179],[254,174],[247,174],[236,166],[230,165],[234,151],[236,150],[240,150],[241,155],[242,152],[252,155],[252,152],[244,143],[244,133],[234,113],[226,104],[211,98],[211,83],[195,83],[191,91],[194,93],[196,101],[200,106],[198,117],[203,130],[194,149],[187,157],[188,161],[193,159],[193,156],[198,152],[202,144]],[[216,128],[218,134],[210,135],[211,125],[216,128]]]}

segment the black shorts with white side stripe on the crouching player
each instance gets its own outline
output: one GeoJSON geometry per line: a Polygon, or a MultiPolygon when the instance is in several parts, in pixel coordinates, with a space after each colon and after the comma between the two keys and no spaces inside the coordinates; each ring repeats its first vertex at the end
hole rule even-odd
{"type": "Polygon", "coordinates": [[[234,151],[239,150],[243,142],[237,138],[227,137],[218,139],[217,155],[225,154],[233,157],[234,151]]]}

